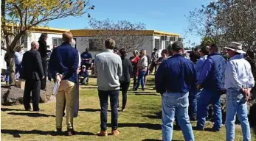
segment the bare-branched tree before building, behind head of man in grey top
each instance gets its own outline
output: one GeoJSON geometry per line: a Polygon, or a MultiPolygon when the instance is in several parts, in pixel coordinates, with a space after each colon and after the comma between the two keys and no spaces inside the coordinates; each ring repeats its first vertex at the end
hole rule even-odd
{"type": "Polygon", "coordinates": [[[104,41],[112,38],[117,43],[117,48],[125,48],[131,52],[142,47],[145,36],[139,30],[145,30],[145,24],[131,23],[131,21],[111,21],[108,18],[103,21],[91,19],[89,28],[97,29],[97,35],[91,42],[97,50],[103,49],[104,41]]]}

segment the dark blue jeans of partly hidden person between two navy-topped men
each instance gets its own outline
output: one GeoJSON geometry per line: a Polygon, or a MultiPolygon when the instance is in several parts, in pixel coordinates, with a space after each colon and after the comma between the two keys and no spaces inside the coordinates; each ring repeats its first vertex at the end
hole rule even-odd
{"type": "Polygon", "coordinates": [[[196,120],[197,104],[198,104],[199,95],[200,95],[200,91],[190,92],[190,95],[189,95],[189,98],[190,98],[190,117],[193,120],[196,120]]]}

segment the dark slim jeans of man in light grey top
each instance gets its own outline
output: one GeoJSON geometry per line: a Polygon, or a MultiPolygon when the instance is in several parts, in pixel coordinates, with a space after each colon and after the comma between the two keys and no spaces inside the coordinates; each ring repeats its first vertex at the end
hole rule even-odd
{"type": "Polygon", "coordinates": [[[107,130],[108,121],[108,95],[110,97],[111,104],[111,127],[112,130],[116,130],[118,126],[118,100],[119,100],[119,90],[103,91],[99,90],[100,98],[100,129],[102,131],[107,130]]]}

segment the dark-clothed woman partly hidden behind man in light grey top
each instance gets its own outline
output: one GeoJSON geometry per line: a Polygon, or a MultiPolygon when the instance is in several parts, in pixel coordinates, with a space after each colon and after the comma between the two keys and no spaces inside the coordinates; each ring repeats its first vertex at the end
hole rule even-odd
{"type": "Polygon", "coordinates": [[[122,88],[122,112],[125,111],[125,105],[127,102],[127,91],[131,82],[132,65],[131,61],[126,57],[125,48],[120,49],[120,57],[122,59],[122,76],[120,78],[120,87],[122,88]]]}

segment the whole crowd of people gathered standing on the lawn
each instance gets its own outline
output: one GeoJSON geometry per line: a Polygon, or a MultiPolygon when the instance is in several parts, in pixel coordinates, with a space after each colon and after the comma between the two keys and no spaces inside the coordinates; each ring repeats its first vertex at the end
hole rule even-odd
{"type": "Polygon", "coordinates": [[[125,48],[118,50],[112,39],[105,40],[105,50],[93,60],[86,51],[81,55],[75,48],[71,32],[63,33],[63,43],[52,51],[46,47],[47,34],[39,41],[32,41],[31,50],[17,51],[17,72],[25,79],[24,108],[41,111],[38,106],[40,90],[46,89],[46,76],[60,84],[56,94],[56,132],[62,132],[62,120],[66,115],[67,134],[75,134],[73,118],[79,109],[79,83],[88,84],[89,68],[97,77],[100,100],[99,136],[108,136],[108,97],[111,104],[111,134],[118,135],[119,95],[122,92],[122,109],[125,111],[127,92],[133,78],[133,90],[141,86],[145,90],[148,73],[155,69],[156,92],[162,95],[162,140],[171,140],[173,121],[176,119],[185,140],[195,140],[190,120],[197,120],[196,130],[203,131],[207,107],[212,104],[214,125],[212,131],[220,131],[222,123],[222,94],[226,93],[226,140],[235,140],[235,115],[241,121],[243,140],[250,140],[246,101],[255,85],[251,66],[243,54],[241,43],[232,42],[226,47],[228,62],[219,53],[217,44],[209,48],[193,50],[188,58],[183,43],[177,41],[162,50],[158,57],[154,48],[151,57],[145,48],[133,51],[127,58],[125,48]],[[50,53],[50,55],[49,55],[50,53]],[[47,57],[47,55],[49,57],[47,57]],[[22,57],[21,57],[22,56],[22,57]],[[90,61],[92,66],[90,66],[90,61]],[[48,68],[49,67],[49,68],[48,68]],[[48,74],[47,74],[48,73],[48,74]],[[190,105],[190,110],[189,110],[190,105]],[[66,106],[66,113],[65,111],[66,106]]]}

